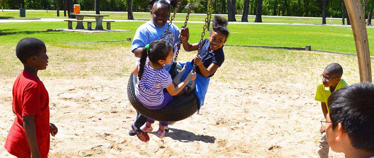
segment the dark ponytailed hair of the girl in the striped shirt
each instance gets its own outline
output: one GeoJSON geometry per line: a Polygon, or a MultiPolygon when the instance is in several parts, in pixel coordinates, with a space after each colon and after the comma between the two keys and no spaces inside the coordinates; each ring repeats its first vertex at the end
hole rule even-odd
{"type": "Polygon", "coordinates": [[[168,57],[169,52],[171,50],[172,50],[171,44],[163,40],[153,41],[149,45],[148,51],[146,49],[143,49],[143,51],[141,52],[141,57],[139,61],[139,71],[138,71],[139,81],[143,75],[145,61],[147,60],[147,57],[149,59],[149,62],[152,62],[154,64],[159,64],[159,60],[165,60],[168,57]]]}

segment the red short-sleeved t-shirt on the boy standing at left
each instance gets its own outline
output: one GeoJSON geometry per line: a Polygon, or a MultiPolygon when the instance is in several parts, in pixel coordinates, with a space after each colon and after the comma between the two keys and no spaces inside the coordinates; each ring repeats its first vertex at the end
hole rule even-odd
{"type": "Polygon", "coordinates": [[[4,147],[19,158],[30,158],[30,146],[23,127],[22,117],[35,115],[36,140],[40,155],[49,152],[49,96],[42,81],[27,71],[18,75],[13,85],[13,111],[16,120],[10,127],[4,147]]]}

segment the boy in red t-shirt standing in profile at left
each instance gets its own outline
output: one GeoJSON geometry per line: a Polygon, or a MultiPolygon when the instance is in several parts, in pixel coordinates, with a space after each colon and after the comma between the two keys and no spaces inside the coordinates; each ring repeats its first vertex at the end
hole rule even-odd
{"type": "Polygon", "coordinates": [[[13,85],[13,113],[16,119],[10,127],[4,147],[19,158],[46,158],[49,133],[55,136],[57,127],[49,123],[49,97],[37,75],[47,68],[48,56],[43,41],[23,38],[16,46],[16,56],[24,65],[13,85]]]}

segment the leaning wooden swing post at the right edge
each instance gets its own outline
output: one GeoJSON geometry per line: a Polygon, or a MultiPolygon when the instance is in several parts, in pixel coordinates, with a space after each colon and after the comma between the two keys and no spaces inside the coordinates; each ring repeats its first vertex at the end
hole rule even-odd
{"type": "Polygon", "coordinates": [[[361,0],[344,0],[355,38],[361,82],[371,82],[370,51],[361,0]]]}

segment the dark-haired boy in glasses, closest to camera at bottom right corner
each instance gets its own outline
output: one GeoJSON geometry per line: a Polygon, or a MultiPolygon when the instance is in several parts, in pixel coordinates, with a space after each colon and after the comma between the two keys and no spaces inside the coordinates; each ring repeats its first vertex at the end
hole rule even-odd
{"type": "Polygon", "coordinates": [[[346,158],[374,158],[374,84],[343,87],[328,99],[325,126],[332,151],[346,158]]]}

